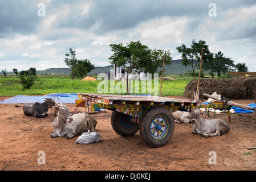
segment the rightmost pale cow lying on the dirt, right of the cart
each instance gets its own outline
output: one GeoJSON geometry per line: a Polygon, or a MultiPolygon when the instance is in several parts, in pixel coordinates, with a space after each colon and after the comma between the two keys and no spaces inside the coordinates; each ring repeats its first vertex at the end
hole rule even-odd
{"type": "Polygon", "coordinates": [[[201,134],[203,137],[221,136],[229,132],[230,127],[222,119],[203,119],[200,118],[200,109],[194,110],[193,134],[201,134]]]}

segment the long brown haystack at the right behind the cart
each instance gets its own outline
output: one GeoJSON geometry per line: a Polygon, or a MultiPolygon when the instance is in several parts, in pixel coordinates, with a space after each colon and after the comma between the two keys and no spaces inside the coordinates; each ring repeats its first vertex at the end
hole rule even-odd
{"type": "MultiPolygon", "coordinates": [[[[192,80],[186,85],[183,94],[186,98],[194,99],[193,89],[197,90],[197,80],[192,80]]],[[[256,77],[239,76],[230,79],[215,78],[201,79],[199,82],[199,98],[208,99],[202,96],[202,93],[212,94],[217,92],[221,97],[230,98],[231,100],[250,100],[256,98],[256,77]]]]}

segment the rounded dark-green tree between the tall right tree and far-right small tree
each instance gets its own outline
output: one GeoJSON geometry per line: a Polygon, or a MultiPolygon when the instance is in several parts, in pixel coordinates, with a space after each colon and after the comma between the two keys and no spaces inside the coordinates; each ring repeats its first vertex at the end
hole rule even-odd
{"type": "Polygon", "coordinates": [[[223,56],[223,53],[219,51],[214,54],[212,61],[204,61],[202,67],[210,72],[217,72],[218,77],[220,77],[222,73],[225,74],[231,67],[235,67],[235,65],[233,60],[223,56]]]}

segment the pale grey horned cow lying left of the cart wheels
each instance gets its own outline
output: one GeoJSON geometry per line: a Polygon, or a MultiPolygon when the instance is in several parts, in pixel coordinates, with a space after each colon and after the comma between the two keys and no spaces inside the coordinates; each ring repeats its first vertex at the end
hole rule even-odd
{"type": "Polygon", "coordinates": [[[60,101],[59,104],[56,103],[56,105],[54,109],[58,110],[58,115],[52,123],[54,131],[51,134],[51,138],[66,136],[66,138],[69,139],[76,137],[80,133],[87,132],[88,130],[95,131],[97,121],[90,115],[79,113],[71,117],[70,110],[66,105],[61,104],[60,101]]]}

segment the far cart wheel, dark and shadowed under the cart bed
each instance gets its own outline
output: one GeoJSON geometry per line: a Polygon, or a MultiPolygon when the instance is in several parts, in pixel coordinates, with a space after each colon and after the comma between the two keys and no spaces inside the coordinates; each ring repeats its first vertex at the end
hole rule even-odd
{"type": "Polygon", "coordinates": [[[111,125],[113,130],[123,136],[131,136],[139,130],[139,124],[131,121],[132,117],[127,114],[113,111],[111,115],[111,125]]]}

